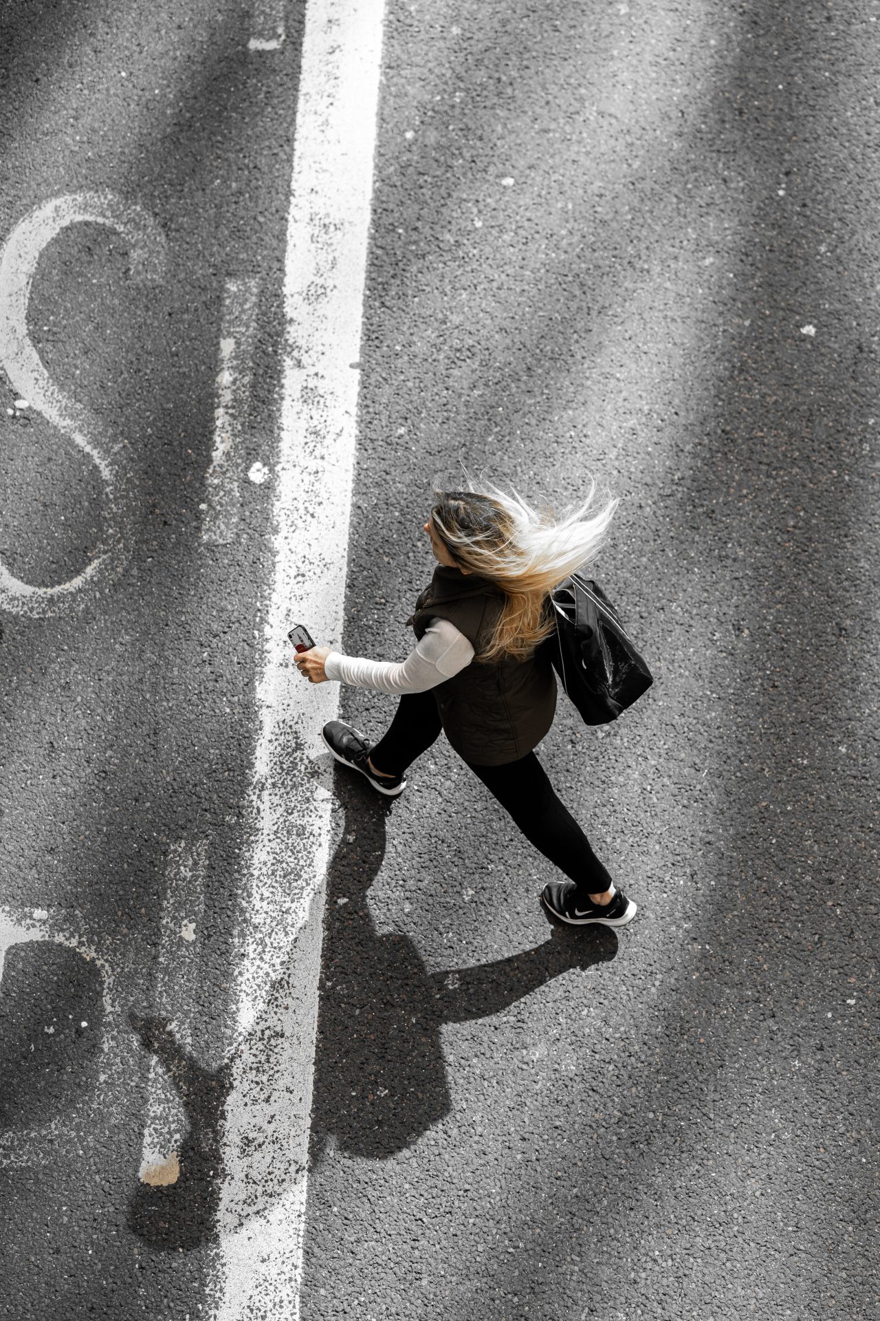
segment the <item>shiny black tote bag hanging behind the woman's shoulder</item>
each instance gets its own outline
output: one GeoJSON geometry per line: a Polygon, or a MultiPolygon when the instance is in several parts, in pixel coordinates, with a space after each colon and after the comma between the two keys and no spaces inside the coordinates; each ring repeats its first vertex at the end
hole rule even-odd
{"type": "Polygon", "coordinates": [[[577,573],[551,592],[557,631],[541,642],[584,724],[606,725],[653,680],[620,616],[592,579],[577,573]]]}

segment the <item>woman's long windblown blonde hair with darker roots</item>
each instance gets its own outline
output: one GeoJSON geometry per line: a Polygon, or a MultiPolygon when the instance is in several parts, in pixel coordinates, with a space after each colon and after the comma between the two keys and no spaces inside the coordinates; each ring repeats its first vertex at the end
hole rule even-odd
{"type": "Polygon", "coordinates": [[[505,654],[525,660],[555,629],[550,592],[594,559],[620,501],[607,493],[596,503],[590,478],[586,499],[566,506],[554,520],[551,507],[537,513],[513,487],[508,495],[462,469],[468,490],[442,490],[435,478],[430,517],[458,568],[504,593],[495,634],[475,659],[488,664],[505,654]]]}

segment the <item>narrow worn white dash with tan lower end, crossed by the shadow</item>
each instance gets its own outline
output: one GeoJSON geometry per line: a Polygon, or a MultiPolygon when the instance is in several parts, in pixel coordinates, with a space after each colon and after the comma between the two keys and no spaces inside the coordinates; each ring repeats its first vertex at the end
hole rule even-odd
{"type": "MultiPolygon", "coordinates": [[[[162,904],[154,1009],[186,1050],[193,1046],[193,1005],[198,992],[199,946],[204,910],[204,844],[179,841],[172,849],[162,904]]],[[[187,1120],[177,1089],[156,1055],[150,1057],[146,1124],[141,1153],[142,1184],[174,1184],[187,1120]]]]}

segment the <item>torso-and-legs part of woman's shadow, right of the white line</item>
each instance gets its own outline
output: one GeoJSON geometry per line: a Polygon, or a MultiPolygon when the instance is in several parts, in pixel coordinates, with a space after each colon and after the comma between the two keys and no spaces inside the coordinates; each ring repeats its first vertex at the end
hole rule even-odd
{"type": "Polygon", "coordinates": [[[429,974],[409,937],[380,934],[369,910],[393,804],[376,802],[367,786],[339,789],[346,820],[327,872],[311,1162],[330,1135],[367,1157],[412,1144],[451,1108],[443,1024],[499,1013],[561,972],[617,951],[608,927],[554,926],[541,945],[505,959],[429,974]],[[352,832],[355,847],[346,841],[352,832]]]}

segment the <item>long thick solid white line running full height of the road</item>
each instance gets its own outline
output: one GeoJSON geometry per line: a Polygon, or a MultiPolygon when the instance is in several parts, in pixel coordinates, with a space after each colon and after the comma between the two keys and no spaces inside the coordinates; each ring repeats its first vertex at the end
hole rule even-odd
{"type": "Polygon", "coordinates": [[[286,350],[276,561],[257,690],[255,847],[224,1128],[218,1321],[299,1316],[309,1114],[329,856],[321,727],[334,683],[309,684],[286,631],[343,630],[360,322],[376,145],[383,0],[310,0],[285,271],[286,350]]]}

